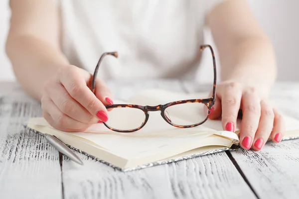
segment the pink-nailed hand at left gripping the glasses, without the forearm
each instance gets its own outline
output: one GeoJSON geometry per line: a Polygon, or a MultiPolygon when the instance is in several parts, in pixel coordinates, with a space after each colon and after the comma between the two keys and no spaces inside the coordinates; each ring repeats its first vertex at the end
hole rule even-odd
{"type": "Polygon", "coordinates": [[[87,71],[68,65],[61,67],[45,83],[41,108],[51,126],[61,131],[78,132],[108,120],[105,105],[113,104],[112,94],[105,83],[97,79],[94,95],[88,87],[91,77],[87,71]]]}

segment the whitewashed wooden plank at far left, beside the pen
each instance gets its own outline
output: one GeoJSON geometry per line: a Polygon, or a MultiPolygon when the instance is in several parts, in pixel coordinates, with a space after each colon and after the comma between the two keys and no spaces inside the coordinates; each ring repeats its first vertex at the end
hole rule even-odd
{"type": "Polygon", "coordinates": [[[62,198],[59,154],[22,125],[40,105],[16,84],[0,83],[0,198],[62,198]]]}

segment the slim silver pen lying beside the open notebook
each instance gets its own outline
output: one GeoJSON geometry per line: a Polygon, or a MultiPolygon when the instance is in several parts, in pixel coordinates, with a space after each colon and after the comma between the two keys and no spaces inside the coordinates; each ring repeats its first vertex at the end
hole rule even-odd
{"type": "Polygon", "coordinates": [[[46,140],[60,153],[67,156],[69,159],[73,160],[74,162],[83,165],[82,160],[73,152],[70,148],[68,148],[63,142],[61,142],[58,138],[49,135],[44,134],[46,140]]]}

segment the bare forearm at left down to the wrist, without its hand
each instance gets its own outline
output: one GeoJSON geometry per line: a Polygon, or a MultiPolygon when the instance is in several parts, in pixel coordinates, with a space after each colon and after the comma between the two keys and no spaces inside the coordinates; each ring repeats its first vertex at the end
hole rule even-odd
{"type": "Polygon", "coordinates": [[[10,0],[6,53],[17,81],[41,100],[44,83],[68,64],[59,48],[58,12],[54,0],[10,0]]]}

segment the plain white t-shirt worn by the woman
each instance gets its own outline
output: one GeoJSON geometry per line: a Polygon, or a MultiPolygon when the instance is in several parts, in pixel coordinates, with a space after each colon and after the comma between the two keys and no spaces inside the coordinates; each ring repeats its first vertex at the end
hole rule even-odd
{"type": "Polygon", "coordinates": [[[90,73],[117,51],[100,65],[104,80],[194,78],[205,16],[219,1],[58,0],[62,50],[90,73]]]}

